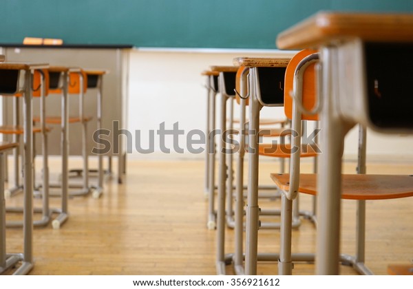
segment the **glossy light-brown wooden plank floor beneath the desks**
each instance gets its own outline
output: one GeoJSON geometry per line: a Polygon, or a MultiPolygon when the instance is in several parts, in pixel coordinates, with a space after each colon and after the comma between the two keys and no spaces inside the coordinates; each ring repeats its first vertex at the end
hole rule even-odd
{"type": "MultiPolygon", "coordinates": [[[[59,165],[52,164],[54,171],[59,165]]],[[[310,171],[304,164],[303,171],[310,171]]],[[[354,172],[354,163],[345,171],[354,172]]],[[[269,173],[277,164],[262,162],[262,184],[271,184],[269,173]]],[[[52,170],[53,171],[53,170],[52,170]]],[[[53,171],[53,172],[54,172],[53,171]]],[[[373,163],[368,173],[411,174],[413,165],[373,163]]],[[[115,178],[114,178],[115,179],[115,178]]],[[[301,198],[303,208],[310,199],[301,198]]],[[[21,196],[6,200],[8,206],[21,196]]],[[[36,200],[36,205],[40,204],[36,200]]],[[[59,199],[52,199],[53,207],[59,199]]],[[[59,230],[49,225],[34,229],[32,275],[214,275],[215,231],[207,229],[204,196],[204,162],[129,160],[124,184],[105,183],[100,199],[70,200],[70,219],[59,230]]],[[[276,208],[278,200],[263,201],[276,208]]],[[[354,253],[354,202],[343,203],[343,253],[354,253]]],[[[8,216],[16,218],[16,216],[8,216]]],[[[38,216],[35,216],[38,217],[38,216]]],[[[411,264],[413,259],[413,198],[374,201],[367,204],[366,264],[379,275],[388,264],[411,264]]],[[[21,252],[21,229],[7,229],[8,253],[21,252]]],[[[233,232],[226,231],[228,253],[233,250],[233,232]]],[[[279,232],[261,230],[260,252],[278,250],[279,232]]],[[[314,252],[315,227],[303,220],[293,232],[293,252],[314,252]]],[[[233,271],[228,268],[228,273],[233,271]]],[[[260,263],[260,275],[276,275],[277,264],[260,263]]],[[[293,274],[313,274],[313,264],[295,264],[293,274]]],[[[354,274],[341,266],[341,274],[354,274]]]]}

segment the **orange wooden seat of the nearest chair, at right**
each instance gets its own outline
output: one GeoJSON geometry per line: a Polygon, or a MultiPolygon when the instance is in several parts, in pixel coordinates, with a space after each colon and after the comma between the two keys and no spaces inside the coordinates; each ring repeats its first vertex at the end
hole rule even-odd
{"type": "MultiPolygon", "coordinates": [[[[346,200],[388,200],[413,196],[413,175],[343,174],[341,198],[346,200]]],[[[290,175],[272,173],[275,184],[288,191],[290,175]]],[[[301,173],[299,192],[317,195],[317,175],[301,173]]]]}

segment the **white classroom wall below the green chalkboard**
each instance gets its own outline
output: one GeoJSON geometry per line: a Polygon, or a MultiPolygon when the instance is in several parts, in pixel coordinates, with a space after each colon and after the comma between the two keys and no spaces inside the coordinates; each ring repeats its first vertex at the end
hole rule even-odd
{"type": "MultiPolygon", "coordinates": [[[[149,146],[152,130],[155,150],[154,153],[143,154],[133,149],[129,157],[204,158],[203,153],[190,153],[186,145],[189,131],[204,130],[206,127],[206,89],[203,87],[204,77],[200,74],[202,70],[210,65],[232,65],[233,58],[239,56],[279,56],[280,53],[277,50],[132,50],[128,129],[132,132],[140,130],[140,144],[144,149],[149,146]],[[157,134],[162,122],[165,122],[165,129],[173,129],[178,122],[179,129],[184,133],[184,136],[177,137],[178,146],[184,149],[184,153],[173,149],[173,136],[165,137],[164,151],[171,149],[171,153],[162,153],[157,134]]],[[[262,109],[265,118],[280,117],[282,114],[281,108],[262,109]]],[[[357,138],[357,128],[346,137],[344,157],[348,160],[354,160],[357,156],[357,138]]],[[[203,148],[204,145],[193,147],[203,148]]],[[[412,136],[390,136],[368,131],[368,160],[413,160],[412,148],[412,136]]]]}

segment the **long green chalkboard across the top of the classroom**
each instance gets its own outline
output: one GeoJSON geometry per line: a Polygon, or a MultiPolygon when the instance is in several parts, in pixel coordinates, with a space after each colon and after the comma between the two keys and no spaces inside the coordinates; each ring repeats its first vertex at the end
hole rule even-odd
{"type": "Polygon", "coordinates": [[[319,10],[413,12],[413,0],[1,0],[0,43],[275,48],[282,30],[319,10]]]}

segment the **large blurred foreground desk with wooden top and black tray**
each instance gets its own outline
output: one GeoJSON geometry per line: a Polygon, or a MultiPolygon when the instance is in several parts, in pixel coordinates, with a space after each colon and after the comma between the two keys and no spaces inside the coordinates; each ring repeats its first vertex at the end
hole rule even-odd
{"type": "Polygon", "coordinates": [[[277,46],[320,52],[324,153],[317,178],[315,268],[320,275],[337,275],[344,136],[357,123],[383,133],[413,132],[408,97],[413,15],[319,12],[279,34],[277,46]],[[394,61],[394,55],[403,61],[394,61]]]}

